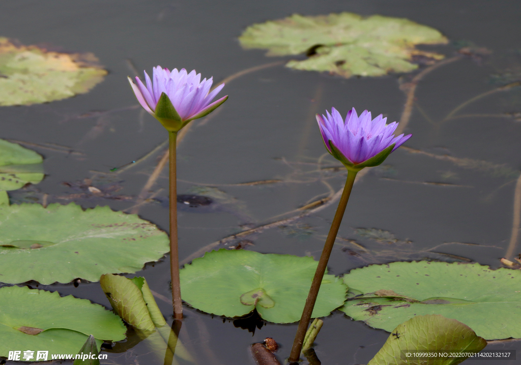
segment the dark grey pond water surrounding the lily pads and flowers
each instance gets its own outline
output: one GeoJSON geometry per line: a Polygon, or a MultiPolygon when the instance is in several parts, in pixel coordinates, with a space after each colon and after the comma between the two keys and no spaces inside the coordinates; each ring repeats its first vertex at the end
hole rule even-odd
{"type": "MultiPolygon", "coordinates": [[[[436,28],[455,42],[436,47],[448,58],[457,55],[463,45],[485,47],[492,53],[463,56],[419,81],[405,129],[413,137],[405,145],[424,153],[401,148],[384,166],[356,183],[339,232],[345,240],[334,248],[330,272],[343,274],[368,263],[425,257],[448,261],[461,257],[500,267],[499,259],[505,257],[512,241],[514,189],[521,166],[521,89],[491,93],[458,110],[455,115],[460,118],[441,121],[466,100],[521,77],[518,1],[3,1],[0,36],[23,44],[47,43],[67,51],[93,52],[109,74],[85,95],[0,108],[0,137],[69,146],[84,154],[29,146],[45,157],[46,178],[32,187],[34,196],[46,193],[49,201],[66,203],[69,200],[58,197],[77,193],[84,179],[93,179],[92,184],[100,188],[120,185],[122,189],[114,195],[129,199],[86,196],[72,200],[83,207],[128,209],[135,205],[161,153],[116,176],[93,171],[109,172],[167,139],[164,128],[136,107],[126,79],[134,75],[133,67],[140,75],[141,70],[150,72],[156,65],[184,67],[220,81],[280,60],[266,57],[264,51],[240,47],[237,37],[250,24],[293,13],[340,11],[403,17],[436,28]],[[357,234],[357,228],[389,231],[398,242],[370,240],[364,236],[368,231],[357,234]],[[363,254],[348,240],[364,245],[369,253],[363,254]],[[452,244],[439,246],[443,243],[452,244]],[[426,251],[431,248],[437,254],[426,251]]],[[[389,121],[400,120],[406,97],[399,84],[413,76],[346,80],[279,65],[227,83],[222,95],[228,94],[229,100],[214,115],[193,122],[178,148],[179,194],[196,194],[195,188],[202,185],[227,194],[211,208],[187,205],[180,210],[180,257],[190,257],[245,226],[289,217],[291,214],[275,218],[326,197],[330,192],[327,184],[338,191],[345,179],[343,170],[316,172],[325,149],[314,115],[332,106],[345,115],[354,106],[358,112],[368,109],[374,115],[383,113],[389,121]],[[237,185],[264,180],[281,182],[237,185]]],[[[323,166],[338,163],[327,157],[323,166]]],[[[139,208],[142,218],[164,230],[168,229],[168,209],[161,202],[167,198],[167,181],[165,170],[152,187],[157,200],[139,208]]],[[[11,197],[21,200],[26,193],[12,192],[11,197]]],[[[335,208],[332,204],[285,227],[246,237],[254,244],[247,248],[318,258],[335,208]]],[[[519,248],[512,246],[509,253],[512,258],[519,248]]],[[[168,260],[148,264],[138,274],[145,276],[152,290],[170,297],[168,260]]],[[[38,287],[110,307],[98,283],[38,287]]],[[[160,299],[158,304],[171,321],[171,305],[160,299]]],[[[274,337],[281,345],[278,356],[283,360],[296,330],[296,324],[267,323],[253,334],[237,327],[237,322],[194,309],[185,308],[185,316],[181,340],[200,364],[251,363],[249,345],[265,337],[274,337]]],[[[255,323],[243,324],[248,325],[255,323]]],[[[366,363],[388,335],[334,312],[325,319],[315,350],[324,364],[366,363]]],[[[514,350],[521,349],[521,344],[507,342],[489,348],[514,350]]],[[[162,361],[138,344],[125,353],[109,353],[104,363],[162,361]]]]}

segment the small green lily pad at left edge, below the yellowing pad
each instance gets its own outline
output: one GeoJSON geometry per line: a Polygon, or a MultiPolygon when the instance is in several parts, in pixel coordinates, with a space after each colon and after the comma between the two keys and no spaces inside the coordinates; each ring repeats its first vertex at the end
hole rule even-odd
{"type": "Polygon", "coordinates": [[[42,156],[33,150],[0,140],[0,204],[7,196],[6,191],[17,190],[27,183],[36,184],[42,181],[42,162],[42,156]]]}

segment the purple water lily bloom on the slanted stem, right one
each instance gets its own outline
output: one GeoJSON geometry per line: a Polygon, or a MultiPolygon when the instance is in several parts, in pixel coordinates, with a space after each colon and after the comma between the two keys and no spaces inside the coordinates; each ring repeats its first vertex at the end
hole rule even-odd
{"type": "Polygon", "coordinates": [[[317,114],[318,127],[329,153],[350,170],[377,166],[396,148],[410,139],[412,134],[393,135],[398,123],[386,124],[380,114],[371,120],[371,112],[364,110],[358,117],[355,108],[348,111],[345,122],[337,109],[327,116],[317,114]]]}

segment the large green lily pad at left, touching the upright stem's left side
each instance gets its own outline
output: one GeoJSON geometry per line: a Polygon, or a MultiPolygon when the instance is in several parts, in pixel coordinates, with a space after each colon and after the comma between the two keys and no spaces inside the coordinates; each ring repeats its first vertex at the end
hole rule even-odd
{"type": "Polygon", "coordinates": [[[0,282],[95,282],[141,270],[169,250],[157,226],[108,206],[0,205],[0,282]]]}

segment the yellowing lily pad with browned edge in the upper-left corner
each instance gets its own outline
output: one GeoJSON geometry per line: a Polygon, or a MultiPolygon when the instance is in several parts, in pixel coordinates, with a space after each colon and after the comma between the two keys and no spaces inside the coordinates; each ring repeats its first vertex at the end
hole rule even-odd
{"type": "Polygon", "coordinates": [[[84,94],[107,71],[92,53],[58,53],[0,37],[0,106],[52,102],[84,94]]]}

